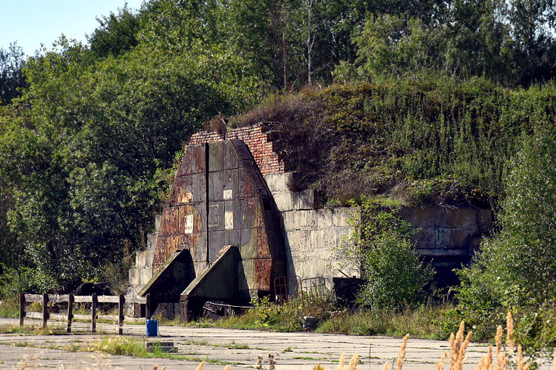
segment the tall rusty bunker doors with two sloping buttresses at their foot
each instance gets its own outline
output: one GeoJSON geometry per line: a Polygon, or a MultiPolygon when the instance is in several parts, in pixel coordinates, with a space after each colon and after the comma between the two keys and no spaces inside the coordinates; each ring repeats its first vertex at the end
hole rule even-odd
{"type": "Polygon", "coordinates": [[[152,278],[138,294],[190,319],[206,301],[272,294],[286,271],[272,194],[241,140],[186,147],[160,221],[152,278]]]}

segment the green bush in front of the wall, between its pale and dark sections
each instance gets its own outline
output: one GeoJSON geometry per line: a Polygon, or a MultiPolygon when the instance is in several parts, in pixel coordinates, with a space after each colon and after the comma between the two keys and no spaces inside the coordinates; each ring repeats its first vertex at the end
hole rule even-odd
{"type": "Polygon", "coordinates": [[[411,225],[395,210],[382,210],[369,199],[363,199],[350,223],[353,232],[341,248],[344,264],[351,269],[359,264],[365,280],[359,303],[374,309],[423,301],[434,271],[419,258],[411,225]]]}

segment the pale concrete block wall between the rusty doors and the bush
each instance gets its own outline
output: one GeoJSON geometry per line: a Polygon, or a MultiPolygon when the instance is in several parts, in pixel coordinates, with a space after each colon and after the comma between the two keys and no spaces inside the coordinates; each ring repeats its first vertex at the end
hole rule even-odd
{"type": "Polygon", "coordinates": [[[279,212],[287,275],[302,279],[323,277],[329,288],[334,277],[359,277],[359,271],[342,274],[337,265],[336,247],[350,233],[347,219],[353,215],[354,208],[313,209],[312,190],[292,192],[288,188],[292,176],[291,172],[264,176],[279,212]]]}

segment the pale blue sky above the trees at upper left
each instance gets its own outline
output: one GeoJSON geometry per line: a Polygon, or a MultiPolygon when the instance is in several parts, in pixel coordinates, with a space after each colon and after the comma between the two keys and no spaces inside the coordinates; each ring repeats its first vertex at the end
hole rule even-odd
{"type": "Polygon", "coordinates": [[[0,0],[0,47],[17,41],[33,55],[41,42],[51,49],[62,33],[86,42],[85,33],[99,25],[96,17],[117,13],[124,3],[138,9],[142,0],[0,0]]]}

